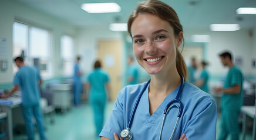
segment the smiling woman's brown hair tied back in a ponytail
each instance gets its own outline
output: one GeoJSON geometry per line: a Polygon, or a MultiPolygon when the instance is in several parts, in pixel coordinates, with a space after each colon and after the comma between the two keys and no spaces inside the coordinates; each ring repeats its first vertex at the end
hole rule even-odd
{"type": "MultiPolygon", "coordinates": [[[[131,27],[134,19],[139,16],[140,13],[149,13],[152,15],[156,15],[163,20],[166,20],[170,23],[171,27],[173,27],[174,35],[176,37],[180,36],[180,31],[183,31],[183,27],[180,24],[180,20],[178,19],[178,15],[171,6],[167,5],[164,2],[157,1],[157,0],[149,0],[140,2],[139,6],[133,11],[130,15],[127,26],[128,32],[130,36],[132,36],[131,27]]],[[[183,38],[183,47],[184,47],[184,38],[183,38]]],[[[181,50],[182,51],[182,50],[181,50]]],[[[180,51],[177,50],[177,57],[176,57],[176,68],[178,74],[183,75],[184,80],[186,81],[187,77],[187,67],[186,63],[184,62],[184,58],[181,55],[180,51]]]]}

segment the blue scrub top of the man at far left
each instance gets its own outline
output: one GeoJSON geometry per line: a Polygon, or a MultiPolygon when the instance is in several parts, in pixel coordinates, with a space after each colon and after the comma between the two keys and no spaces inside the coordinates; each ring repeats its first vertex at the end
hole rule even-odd
{"type": "Polygon", "coordinates": [[[38,69],[34,67],[23,66],[14,77],[14,85],[21,88],[21,99],[23,106],[33,106],[39,103],[40,90],[39,80],[41,76],[38,69]]]}

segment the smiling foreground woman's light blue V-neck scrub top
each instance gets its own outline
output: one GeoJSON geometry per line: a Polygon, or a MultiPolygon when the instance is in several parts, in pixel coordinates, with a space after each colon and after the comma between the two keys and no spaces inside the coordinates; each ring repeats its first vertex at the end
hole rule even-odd
{"type": "MultiPolygon", "coordinates": [[[[127,128],[135,101],[145,85],[146,83],[129,85],[119,92],[112,113],[103,127],[100,136],[114,139],[113,132],[120,136],[120,132],[127,128]]],[[[179,89],[178,87],[171,92],[157,110],[150,115],[148,88],[147,86],[139,101],[133,124],[130,128],[130,131],[133,133],[133,139],[159,139],[164,108],[169,101],[176,97],[179,89]]],[[[191,83],[184,82],[180,100],[183,103],[184,109],[173,139],[179,139],[182,134],[186,134],[186,138],[190,140],[215,140],[217,107],[213,97],[191,83]]],[[[170,138],[177,120],[177,114],[178,109],[171,108],[166,115],[161,139],[170,138]]]]}

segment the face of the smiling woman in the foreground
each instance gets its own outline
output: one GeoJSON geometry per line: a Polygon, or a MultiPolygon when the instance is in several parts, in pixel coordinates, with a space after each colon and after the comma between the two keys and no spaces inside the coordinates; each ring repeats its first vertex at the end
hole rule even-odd
{"type": "Polygon", "coordinates": [[[142,13],[132,23],[133,53],[149,74],[176,69],[176,49],[183,33],[174,36],[173,27],[160,17],[142,13]]]}

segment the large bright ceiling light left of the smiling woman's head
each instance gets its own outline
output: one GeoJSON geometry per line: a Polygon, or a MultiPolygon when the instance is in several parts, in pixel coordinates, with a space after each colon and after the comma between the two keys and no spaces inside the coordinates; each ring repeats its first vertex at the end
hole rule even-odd
{"type": "Polygon", "coordinates": [[[121,7],[114,2],[110,3],[83,3],[81,8],[88,13],[114,13],[120,12],[121,7]]]}

